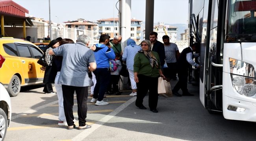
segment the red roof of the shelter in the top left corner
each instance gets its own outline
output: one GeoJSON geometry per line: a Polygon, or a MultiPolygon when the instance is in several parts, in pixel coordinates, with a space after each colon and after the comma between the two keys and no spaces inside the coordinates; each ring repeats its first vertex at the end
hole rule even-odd
{"type": "Polygon", "coordinates": [[[0,0],[0,13],[25,17],[25,13],[28,13],[28,10],[12,0],[0,0]]]}

